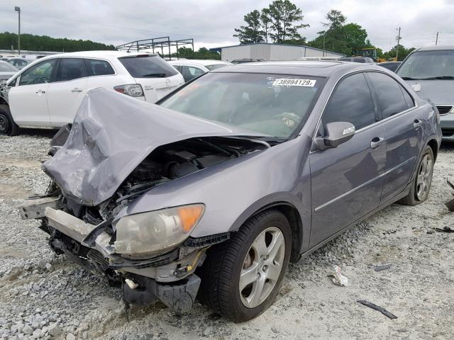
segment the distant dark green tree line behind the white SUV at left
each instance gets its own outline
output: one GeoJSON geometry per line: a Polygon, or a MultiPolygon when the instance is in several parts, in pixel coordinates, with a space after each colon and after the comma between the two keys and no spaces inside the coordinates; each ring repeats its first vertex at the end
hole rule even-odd
{"type": "MultiPolygon", "coordinates": [[[[18,50],[16,33],[0,33],[0,49],[18,50]]],[[[106,45],[92,40],[73,40],[67,38],[50,38],[47,35],[21,34],[21,50],[79,52],[89,50],[115,50],[114,45],[106,45]]]]}

